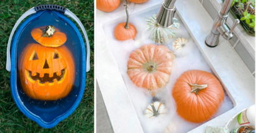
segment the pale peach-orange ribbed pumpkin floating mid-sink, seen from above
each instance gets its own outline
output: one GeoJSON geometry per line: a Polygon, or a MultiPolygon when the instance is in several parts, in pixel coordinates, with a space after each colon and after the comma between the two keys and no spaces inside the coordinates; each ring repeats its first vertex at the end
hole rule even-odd
{"type": "Polygon", "coordinates": [[[127,74],[135,85],[154,95],[169,81],[174,58],[174,53],[164,45],[144,45],[130,53],[127,74]]]}

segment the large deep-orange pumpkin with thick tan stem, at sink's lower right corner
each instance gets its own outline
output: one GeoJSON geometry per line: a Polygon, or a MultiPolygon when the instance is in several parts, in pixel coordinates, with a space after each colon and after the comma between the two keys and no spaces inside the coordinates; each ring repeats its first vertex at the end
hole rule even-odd
{"type": "Polygon", "coordinates": [[[209,120],[218,111],[224,101],[224,90],[211,73],[191,70],[177,79],[172,96],[179,116],[199,123],[209,120]]]}

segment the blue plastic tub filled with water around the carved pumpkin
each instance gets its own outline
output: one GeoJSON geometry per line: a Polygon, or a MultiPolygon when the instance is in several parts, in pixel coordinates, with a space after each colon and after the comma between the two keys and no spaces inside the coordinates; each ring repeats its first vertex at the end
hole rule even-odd
{"type": "Polygon", "coordinates": [[[86,85],[86,48],[79,29],[66,16],[57,11],[38,11],[29,16],[16,30],[12,39],[11,48],[11,93],[18,108],[39,126],[51,128],[56,126],[79,105],[86,85]],[[42,25],[56,25],[62,27],[62,32],[67,35],[64,45],[72,53],[75,62],[76,76],[71,92],[56,101],[42,101],[32,99],[24,93],[19,80],[17,60],[27,44],[37,43],[30,34],[31,30],[42,25]],[[65,28],[63,28],[65,27],[65,28]],[[29,34],[28,34],[29,33],[29,34]]]}

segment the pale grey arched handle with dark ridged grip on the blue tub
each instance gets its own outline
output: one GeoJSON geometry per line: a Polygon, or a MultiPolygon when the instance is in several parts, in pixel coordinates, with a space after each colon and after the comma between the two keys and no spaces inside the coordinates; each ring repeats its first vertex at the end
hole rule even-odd
{"type": "Polygon", "coordinates": [[[56,10],[57,9],[60,10],[60,12],[64,12],[64,14],[66,16],[71,17],[72,19],[74,19],[74,21],[77,22],[77,24],[79,25],[79,27],[82,29],[82,33],[84,34],[84,38],[86,39],[86,47],[87,47],[87,56],[86,56],[86,72],[88,72],[90,70],[90,44],[89,44],[89,40],[86,34],[86,29],[84,29],[84,26],[82,25],[81,21],[78,19],[78,17],[73,14],[71,11],[69,11],[69,9],[66,9],[62,6],[56,6],[56,5],[41,5],[41,6],[36,6],[36,7],[32,7],[31,9],[29,9],[29,11],[26,11],[21,17],[19,17],[19,19],[17,20],[16,24],[14,25],[14,27],[12,28],[12,32],[11,35],[9,37],[8,40],[8,44],[7,44],[7,59],[6,59],[6,70],[7,71],[11,71],[11,56],[10,56],[10,47],[11,47],[11,40],[12,40],[12,36],[17,28],[17,26],[21,23],[21,21],[23,19],[25,19],[27,16],[36,13],[37,11],[42,11],[42,10],[46,10],[47,6],[49,6],[48,10],[56,10]],[[57,8],[57,9],[56,9],[57,8]],[[63,9],[64,8],[64,9],[63,9]]]}

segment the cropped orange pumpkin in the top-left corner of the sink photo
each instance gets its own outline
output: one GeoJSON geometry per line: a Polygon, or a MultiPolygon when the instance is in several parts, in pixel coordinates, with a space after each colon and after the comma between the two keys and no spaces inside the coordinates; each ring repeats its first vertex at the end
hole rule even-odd
{"type": "Polygon", "coordinates": [[[104,12],[112,12],[117,9],[121,0],[97,0],[96,8],[104,12]]]}

